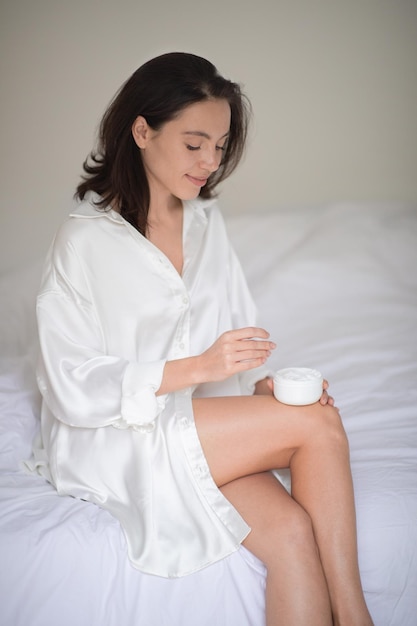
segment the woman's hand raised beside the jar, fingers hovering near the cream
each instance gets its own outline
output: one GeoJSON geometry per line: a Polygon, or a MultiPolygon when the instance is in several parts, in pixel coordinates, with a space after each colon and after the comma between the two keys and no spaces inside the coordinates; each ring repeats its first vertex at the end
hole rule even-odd
{"type": "Polygon", "coordinates": [[[200,382],[217,382],[263,365],[276,348],[263,328],[229,330],[196,357],[200,382]]]}

